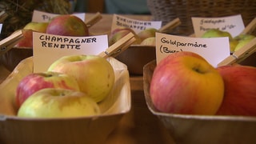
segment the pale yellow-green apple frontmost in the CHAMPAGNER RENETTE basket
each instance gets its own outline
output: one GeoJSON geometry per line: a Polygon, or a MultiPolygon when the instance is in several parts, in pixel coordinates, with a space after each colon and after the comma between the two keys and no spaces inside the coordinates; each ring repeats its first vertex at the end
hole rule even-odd
{"type": "Polygon", "coordinates": [[[18,117],[71,118],[101,114],[98,104],[81,91],[46,88],[32,94],[18,109],[18,117]]]}

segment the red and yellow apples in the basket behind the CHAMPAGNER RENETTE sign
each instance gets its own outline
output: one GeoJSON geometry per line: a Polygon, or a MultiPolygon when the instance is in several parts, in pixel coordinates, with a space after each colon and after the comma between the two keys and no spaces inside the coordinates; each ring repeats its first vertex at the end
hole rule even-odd
{"type": "Polygon", "coordinates": [[[33,31],[62,36],[89,36],[86,23],[72,14],[62,14],[50,22],[29,22],[22,29],[23,39],[14,47],[33,47],[33,31]]]}

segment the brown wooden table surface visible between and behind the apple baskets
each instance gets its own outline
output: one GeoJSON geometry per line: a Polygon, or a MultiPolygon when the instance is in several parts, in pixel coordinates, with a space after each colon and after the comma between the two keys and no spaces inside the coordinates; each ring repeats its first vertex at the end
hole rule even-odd
{"type": "MultiPolygon", "coordinates": [[[[87,15],[88,18],[92,14],[87,15]]],[[[150,20],[149,15],[126,15],[128,18],[150,20]]],[[[108,33],[112,22],[112,15],[102,14],[102,20],[90,27],[94,34],[108,33]]],[[[0,63],[0,83],[10,74],[0,63]]],[[[124,114],[114,131],[109,135],[106,144],[134,144],[134,143],[174,143],[173,138],[146,106],[143,93],[142,75],[130,76],[131,110],[124,114]]]]}

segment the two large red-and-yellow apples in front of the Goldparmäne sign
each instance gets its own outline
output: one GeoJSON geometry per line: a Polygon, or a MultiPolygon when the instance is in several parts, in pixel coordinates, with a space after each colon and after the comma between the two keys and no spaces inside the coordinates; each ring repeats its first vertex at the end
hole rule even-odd
{"type": "Polygon", "coordinates": [[[170,114],[256,116],[256,67],[214,68],[193,52],[168,55],[154,69],[150,98],[170,114]]]}

